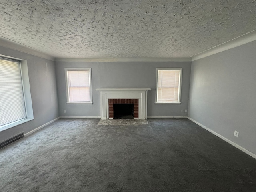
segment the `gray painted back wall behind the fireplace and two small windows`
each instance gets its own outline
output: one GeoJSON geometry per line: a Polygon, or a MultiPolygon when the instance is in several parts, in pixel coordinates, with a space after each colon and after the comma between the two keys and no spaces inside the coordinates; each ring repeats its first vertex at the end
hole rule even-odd
{"type": "Polygon", "coordinates": [[[191,62],[56,62],[60,116],[100,116],[100,93],[96,88],[151,88],[148,91],[148,116],[187,116],[191,62]],[[92,105],[67,105],[64,68],[92,68],[92,105]],[[156,105],[156,68],[182,67],[180,105],[156,105]],[[63,112],[66,110],[66,113],[63,112]]]}

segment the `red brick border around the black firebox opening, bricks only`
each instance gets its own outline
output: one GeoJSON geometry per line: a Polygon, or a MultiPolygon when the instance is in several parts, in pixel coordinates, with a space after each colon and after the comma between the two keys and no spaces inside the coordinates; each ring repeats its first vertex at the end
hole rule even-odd
{"type": "Polygon", "coordinates": [[[108,99],[108,115],[114,118],[114,104],[134,104],[134,118],[139,118],[139,99],[108,99]]]}

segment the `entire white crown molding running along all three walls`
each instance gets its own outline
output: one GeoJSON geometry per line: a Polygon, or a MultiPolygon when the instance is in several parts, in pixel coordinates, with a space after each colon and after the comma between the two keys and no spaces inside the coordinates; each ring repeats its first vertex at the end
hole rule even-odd
{"type": "Polygon", "coordinates": [[[256,30],[224,42],[191,57],[174,58],[55,58],[34,48],[0,36],[0,46],[56,62],[191,62],[256,40],[256,30]]]}

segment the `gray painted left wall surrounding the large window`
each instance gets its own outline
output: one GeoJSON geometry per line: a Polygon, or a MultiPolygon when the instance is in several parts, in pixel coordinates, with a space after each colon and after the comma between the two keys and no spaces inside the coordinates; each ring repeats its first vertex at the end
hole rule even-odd
{"type": "Polygon", "coordinates": [[[27,60],[34,113],[34,120],[0,132],[0,142],[2,142],[18,133],[26,134],[58,118],[59,115],[54,62],[2,46],[0,46],[0,54],[27,60]]]}

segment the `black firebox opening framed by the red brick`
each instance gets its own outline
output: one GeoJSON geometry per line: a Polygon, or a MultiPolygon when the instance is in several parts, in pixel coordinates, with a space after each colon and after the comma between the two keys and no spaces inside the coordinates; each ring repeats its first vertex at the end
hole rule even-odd
{"type": "Polygon", "coordinates": [[[114,119],[134,119],[134,104],[113,104],[114,119]]]}

